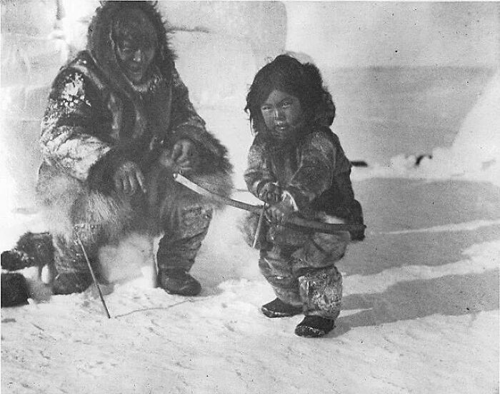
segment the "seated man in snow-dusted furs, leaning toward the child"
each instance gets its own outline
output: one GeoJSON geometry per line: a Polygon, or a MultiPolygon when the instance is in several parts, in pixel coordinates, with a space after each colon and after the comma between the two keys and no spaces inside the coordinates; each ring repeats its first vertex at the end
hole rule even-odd
{"type": "Polygon", "coordinates": [[[107,1],[96,10],[86,50],[52,85],[41,153],[37,186],[51,226],[54,293],[91,284],[80,242],[96,264],[100,246],[131,231],[164,234],[161,288],[184,296],[201,291],[189,270],[214,207],[172,173],[228,193],[231,164],[189,101],[151,2],[107,1]]]}

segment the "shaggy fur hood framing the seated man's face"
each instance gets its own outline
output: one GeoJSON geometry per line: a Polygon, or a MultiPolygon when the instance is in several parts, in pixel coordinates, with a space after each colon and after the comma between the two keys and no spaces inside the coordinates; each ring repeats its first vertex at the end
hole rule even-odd
{"type": "Polygon", "coordinates": [[[114,43],[111,34],[119,11],[130,9],[144,12],[153,24],[158,36],[158,51],[154,58],[154,64],[166,80],[171,78],[174,70],[176,56],[170,48],[169,29],[154,4],[156,1],[101,1],[101,6],[96,9],[89,24],[87,51],[109,81],[121,89],[125,89],[129,94],[132,93],[130,84],[119,69],[115,54],[116,43],[114,43]]]}

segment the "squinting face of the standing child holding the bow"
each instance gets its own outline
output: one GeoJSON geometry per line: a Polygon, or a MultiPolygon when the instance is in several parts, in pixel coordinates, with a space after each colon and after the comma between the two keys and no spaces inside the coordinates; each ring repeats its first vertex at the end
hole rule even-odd
{"type": "Polygon", "coordinates": [[[284,91],[271,91],[261,105],[261,113],[268,131],[277,141],[295,138],[304,124],[299,98],[284,91]]]}

